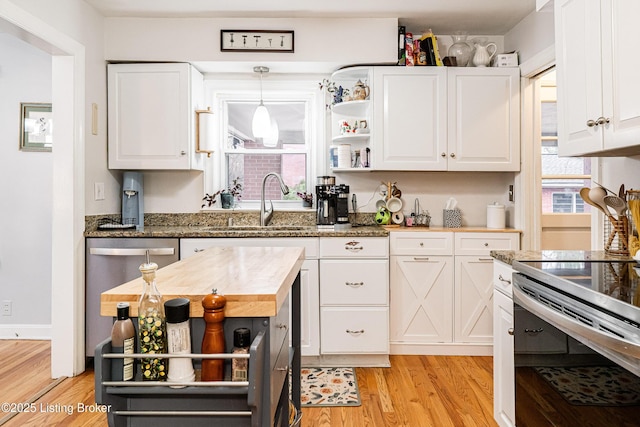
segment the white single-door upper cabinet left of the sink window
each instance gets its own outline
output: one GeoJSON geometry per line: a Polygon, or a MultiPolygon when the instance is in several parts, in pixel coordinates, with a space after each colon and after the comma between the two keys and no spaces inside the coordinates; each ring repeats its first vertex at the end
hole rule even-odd
{"type": "Polygon", "coordinates": [[[109,64],[109,169],[202,170],[195,120],[204,82],[190,64],[109,64]]]}

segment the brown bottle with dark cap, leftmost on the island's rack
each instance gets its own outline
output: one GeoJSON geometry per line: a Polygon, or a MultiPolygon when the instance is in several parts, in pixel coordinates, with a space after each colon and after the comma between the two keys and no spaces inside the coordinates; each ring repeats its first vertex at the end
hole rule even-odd
{"type": "MultiPolygon", "coordinates": [[[[129,318],[129,303],[119,302],[117,320],[111,328],[111,351],[113,353],[133,354],[136,350],[136,329],[129,318]]],[[[134,375],[132,357],[112,359],[111,379],[113,381],[130,381],[134,375]]]]}

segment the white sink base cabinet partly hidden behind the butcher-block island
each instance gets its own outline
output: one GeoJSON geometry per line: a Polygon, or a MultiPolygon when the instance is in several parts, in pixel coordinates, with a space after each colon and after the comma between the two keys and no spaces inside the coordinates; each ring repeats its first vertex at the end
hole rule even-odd
{"type": "Polygon", "coordinates": [[[320,296],[318,279],[318,239],[301,238],[192,238],[180,239],[180,259],[220,246],[303,246],[305,261],[300,269],[300,347],[302,356],[320,354],[320,296]]]}

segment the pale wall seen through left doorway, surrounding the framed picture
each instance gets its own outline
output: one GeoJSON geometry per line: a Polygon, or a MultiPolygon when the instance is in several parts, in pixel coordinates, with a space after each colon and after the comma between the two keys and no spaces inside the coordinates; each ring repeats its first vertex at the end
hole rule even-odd
{"type": "Polygon", "coordinates": [[[0,93],[0,301],[12,302],[0,337],[48,337],[52,154],[19,141],[20,103],[51,102],[51,56],[0,33],[0,93]]]}

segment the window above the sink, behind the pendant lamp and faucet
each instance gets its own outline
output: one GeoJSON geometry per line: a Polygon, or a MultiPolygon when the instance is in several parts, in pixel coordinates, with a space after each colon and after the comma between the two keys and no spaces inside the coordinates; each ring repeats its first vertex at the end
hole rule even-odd
{"type": "MultiPolygon", "coordinates": [[[[249,82],[253,83],[253,82],[249,82]]],[[[324,107],[318,83],[269,82],[264,83],[263,98],[269,115],[278,126],[274,144],[263,144],[254,138],[251,122],[260,99],[260,89],[247,90],[248,82],[213,84],[213,104],[219,111],[219,149],[207,185],[213,191],[226,188],[240,178],[243,184],[241,208],[253,208],[260,200],[262,180],[270,172],[279,173],[290,189],[283,195],[276,179],[269,179],[265,197],[277,206],[300,206],[297,192],[313,192],[314,159],[322,134],[318,132],[324,107]],[[235,89],[234,89],[235,88],[235,89]]]]}

